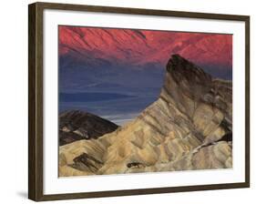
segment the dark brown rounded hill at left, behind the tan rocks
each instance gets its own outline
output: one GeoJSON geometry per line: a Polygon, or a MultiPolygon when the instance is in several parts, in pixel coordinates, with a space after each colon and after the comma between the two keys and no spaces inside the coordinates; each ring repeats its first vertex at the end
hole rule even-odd
{"type": "Polygon", "coordinates": [[[58,121],[60,146],[80,139],[99,138],[118,128],[107,119],[80,110],[63,112],[58,121]]]}

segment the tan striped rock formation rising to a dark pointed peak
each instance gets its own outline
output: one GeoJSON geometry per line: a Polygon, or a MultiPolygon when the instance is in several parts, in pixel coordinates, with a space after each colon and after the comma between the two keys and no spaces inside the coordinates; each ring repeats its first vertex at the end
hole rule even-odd
{"type": "Polygon", "coordinates": [[[232,167],[232,84],[179,55],[159,99],[124,127],[59,148],[59,175],[232,167]]]}

